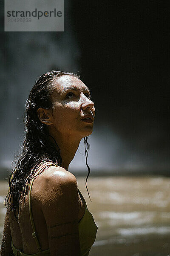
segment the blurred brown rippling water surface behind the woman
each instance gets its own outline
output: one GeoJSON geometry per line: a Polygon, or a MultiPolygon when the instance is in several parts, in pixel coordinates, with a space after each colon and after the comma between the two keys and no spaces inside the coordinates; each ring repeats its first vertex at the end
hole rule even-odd
{"type": "MultiPolygon", "coordinates": [[[[167,256],[170,254],[169,177],[77,177],[98,226],[89,256],[167,256]]],[[[7,181],[0,181],[0,235],[7,181]]]]}

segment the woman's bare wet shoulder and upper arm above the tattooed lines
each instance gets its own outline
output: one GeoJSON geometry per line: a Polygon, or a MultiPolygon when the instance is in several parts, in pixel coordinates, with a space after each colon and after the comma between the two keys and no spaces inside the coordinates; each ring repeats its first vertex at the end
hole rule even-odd
{"type": "Polygon", "coordinates": [[[76,177],[62,167],[51,166],[41,184],[41,209],[46,223],[78,221],[79,196],[76,177]],[[73,220],[74,219],[74,220],[73,220]]]}

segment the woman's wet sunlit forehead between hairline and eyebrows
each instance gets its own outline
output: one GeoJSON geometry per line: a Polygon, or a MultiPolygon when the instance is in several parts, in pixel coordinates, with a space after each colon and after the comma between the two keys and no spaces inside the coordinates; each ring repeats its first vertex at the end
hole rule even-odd
{"type": "Polygon", "coordinates": [[[64,75],[54,80],[53,82],[56,93],[65,93],[68,89],[73,90],[86,90],[89,91],[88,87],[77,77],[64,75]]]}

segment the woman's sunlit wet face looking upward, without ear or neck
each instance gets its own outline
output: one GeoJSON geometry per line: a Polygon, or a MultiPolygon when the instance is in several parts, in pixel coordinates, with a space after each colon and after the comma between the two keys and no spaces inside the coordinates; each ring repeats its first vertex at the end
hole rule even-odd
{"type": "Polygon", "coordinates": [[[82,138],[90,135],[93,131],[95,108],[88,87],[70,75],[61,76],[53,84],[52,118],[55,131],[82,138]],[[82,120],[85,117],[91,119],[82,120]]]}

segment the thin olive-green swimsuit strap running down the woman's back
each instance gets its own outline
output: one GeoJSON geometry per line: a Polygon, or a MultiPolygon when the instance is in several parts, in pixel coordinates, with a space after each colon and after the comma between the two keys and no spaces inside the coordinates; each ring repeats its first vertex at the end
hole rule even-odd
{"type": "Polygon", "coordinates": [[[42,249],[41,249],[41,246],[40,246],[40,242],[38,241],[37,232],[36,232],[36,229],[35,229],[35,224],[34,224],[34,220],[33,220],[33,216],[32,216],[32,209],[31,209],[31,189],[32,189],[34,179],[35,179],[35,177],[31,180],[30,189],[29,189],[29,216],[30,216],[32,230],[33,230],[32,237],[35,239],[38,251],[41,252],[42,249]]]}

